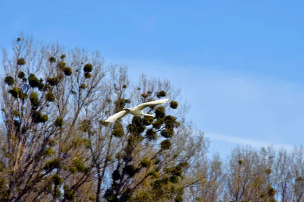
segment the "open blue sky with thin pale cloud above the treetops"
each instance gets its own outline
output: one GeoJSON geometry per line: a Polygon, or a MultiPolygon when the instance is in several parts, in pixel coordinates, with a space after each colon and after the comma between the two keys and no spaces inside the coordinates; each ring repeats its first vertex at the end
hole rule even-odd
{"type": "Polygon", "coordinates": [[[2,0],[0,46],[24,31],[168,78],[221,156],[304,142],[304,2],[147,2],[2,0]]]}

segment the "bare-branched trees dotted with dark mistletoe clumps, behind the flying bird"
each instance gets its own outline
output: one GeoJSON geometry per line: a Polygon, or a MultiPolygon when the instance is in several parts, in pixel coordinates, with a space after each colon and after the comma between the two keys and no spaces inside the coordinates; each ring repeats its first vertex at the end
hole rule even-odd
{"type": "Polygon", "coordinates": [[[302,201],[304,149],[207,157],[169,80],[20,34],[1,66],[0,201],[302,201]],[[134,78],[132,78],[134,80],[134,78]],[[164,97],[148,116],[107,117],[164,97]]]}

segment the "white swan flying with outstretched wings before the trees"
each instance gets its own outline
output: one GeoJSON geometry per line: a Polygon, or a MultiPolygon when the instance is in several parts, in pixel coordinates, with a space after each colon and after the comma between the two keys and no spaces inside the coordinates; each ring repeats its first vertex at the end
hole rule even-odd
{"type": "Polygon", "coordinates": [[[168,102],[168,100],[169,100],[169,98],[159,99],[159,100],[155,100],[155,101],[151,101],[151,102],[147,102],[147,103],[142,103],[134,108],[123,108],[123,111],[120,111],[120,112],[116,113],[115,115],[110,116],[109,118],[107,118],[107,120],[105,120],[105,122],[116,121],[117,119],[120,119],[120,118],[126,116],[127,114],[132,114],[134,116],[144,115],[144,116],[150,116],[150,117],[155,118],[154,115],[145,114],[145,113],[143,113],[142,110],[149,106],[165,104],[168,102]]]}

